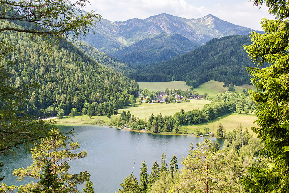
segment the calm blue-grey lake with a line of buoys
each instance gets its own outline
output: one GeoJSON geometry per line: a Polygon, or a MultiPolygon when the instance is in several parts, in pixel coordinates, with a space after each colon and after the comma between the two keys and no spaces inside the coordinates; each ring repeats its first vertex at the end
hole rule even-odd
{"type": "MultiPolygon", "coordinates": [[[[182,157],[187,157],[189,145],[200,143],[204,138],[216,140],[215,137],[195,137],[194,135],[161,135],[155,133],[133,132],[129,130],[116,130],[108,126],[62,126],[62,132],[68,132],[74,128],[78,135],[73,136],[74,141],[78,141],[80,148],[77,152],[87,151],[87,156],[69,162],[71,166],[69,172],[78,173],[88,171],[91,174],[90,181],[94,184],[95,192],[114,193],[121,188],[120,183],[131,173],[140,178],[140,165],[146,161],[148,172],[155,160],[160,165],[160,158],[164,152],[166,163],[170,163],[175,154],[179,168],[182,168],[182,157]]],[[[218,139],[220,146],[223,140],[218,139]]],[[[0,176],[6,175],[3,183],[7,185],[26,184],[32,179],[27,177],[23,181],[17,181],[12,176],[16,168],[32,164],[30,155],[23,151],[17,152],[16,159],[12,156],[1,157],[5,165],[1,168],[3,172],[0,176]]],[[[84,188],[81,186],[79,188],[84,188]]],[[[80,189],[82,190],[82,189],[80,189]]]]}

